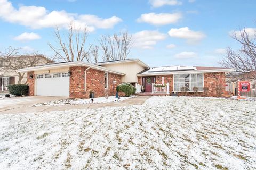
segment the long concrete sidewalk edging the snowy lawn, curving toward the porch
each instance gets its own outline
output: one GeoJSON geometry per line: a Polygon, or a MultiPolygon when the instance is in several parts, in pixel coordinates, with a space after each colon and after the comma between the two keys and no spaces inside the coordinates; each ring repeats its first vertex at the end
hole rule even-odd
{"type": "Polygon", "coordinates": [[[47,112],[47,111],[66,111],[70,109],[87,109],[87,108],[101,108],[101,107],[122,107],[130,105],[142,105],[150,96],[133,97],[120,102],[98,103],[98,104],[85,104],[85,105],[60,105],[60,106],[36,106],[30,107],[23,106],[18,108],[9,108],[0,110],[0,114],[8,113],[28,113],[28,112],[47,112]]]}

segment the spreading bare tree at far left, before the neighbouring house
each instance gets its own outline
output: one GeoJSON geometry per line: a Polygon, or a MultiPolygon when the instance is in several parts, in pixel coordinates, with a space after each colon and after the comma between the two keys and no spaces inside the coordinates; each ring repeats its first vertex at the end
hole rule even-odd
{"type": "Polygon", "coordinates": [[[53,62],[44,55],[37,54],[37,52],[34,52],[33,54],[21,55],[19,52],[20,49],[21,48],[9,47],[6,48],[4,52],[0,52],[0,60],[3,63],[3,66],[0,68],[1,74],[9,73],[17,75],[19,77],[18,84],[21,84],[21,80],[26,75],[26,73],[17,72],[18,69],[53,62]]]}

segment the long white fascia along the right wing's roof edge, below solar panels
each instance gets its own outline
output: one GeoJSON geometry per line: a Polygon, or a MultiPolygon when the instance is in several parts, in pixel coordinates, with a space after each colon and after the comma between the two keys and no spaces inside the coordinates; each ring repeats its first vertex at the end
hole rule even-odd
{"type": "Polygon", "coordinates": [[[154,76],[154,75],[171,75],[171,74],[193,74],[193,73],[215,73],[215,72],[233,72],[236,69],[214,69],[214,70],[190,70],[190,71],[173,71],[173,72],[158,72],[158,73],[146,73],[137,74],[137,76],[154,76]]]}

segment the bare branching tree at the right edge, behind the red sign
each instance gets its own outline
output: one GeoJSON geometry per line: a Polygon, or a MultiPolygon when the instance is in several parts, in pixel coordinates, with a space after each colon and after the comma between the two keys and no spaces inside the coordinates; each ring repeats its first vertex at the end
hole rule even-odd
{"type": "Polygon", "coordinates": [[[251,35],[245,28],[241,29],[239,33],[233,33],[235,39],[240,45],[241,49],[235,51],[230,47],[227,48],[226,56],[220,62],[224,67],[236,68],[239,74],[236,74],[236,80],[241,78],[253,79],[256,78],[256,32],[251,35]]]}

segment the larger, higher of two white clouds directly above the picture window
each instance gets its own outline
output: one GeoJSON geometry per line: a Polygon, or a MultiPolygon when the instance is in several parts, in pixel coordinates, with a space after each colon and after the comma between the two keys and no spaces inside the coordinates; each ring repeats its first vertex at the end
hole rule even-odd
{"type": "Polygon", "coordinates": [[[199,31],[192,31],[188,27],[183,27],[183,28],[172,28],[168,32],[169,36],[174,37],[174,38],[181,38],[181,39],[186,39],[187,43],[189,44],[194,44],[198,43],[201,41],[203,38],[206,37],[206,35],[202,32],[199,31]]]}

